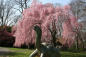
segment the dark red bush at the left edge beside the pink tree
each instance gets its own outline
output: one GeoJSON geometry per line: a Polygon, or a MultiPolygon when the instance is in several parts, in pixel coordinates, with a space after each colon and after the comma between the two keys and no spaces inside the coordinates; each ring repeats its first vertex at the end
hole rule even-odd
{"type": "Polygon", "coordinates": [[[15,37],[12,36],[10,26],[0,26],[0,46],[13,46],[15,37]]]}

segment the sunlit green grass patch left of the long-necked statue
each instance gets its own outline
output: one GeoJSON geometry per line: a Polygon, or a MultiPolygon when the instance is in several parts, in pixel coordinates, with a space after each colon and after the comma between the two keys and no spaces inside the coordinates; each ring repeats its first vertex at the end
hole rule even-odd
{"type": "Polygon", "coordinates": [[[29,57],[30,53],[34,51],[30,49],[21,49],[21,48],[8,48],[8,49],[11,50],[11,52],[5,55],[8,57],[29,57]]]}

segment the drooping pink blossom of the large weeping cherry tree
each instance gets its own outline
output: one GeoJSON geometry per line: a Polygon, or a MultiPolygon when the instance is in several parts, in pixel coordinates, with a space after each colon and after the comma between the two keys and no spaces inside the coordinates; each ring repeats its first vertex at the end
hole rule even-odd
{"type": "MultiPolygon", "coordinates": [[[[78,25],[76,18],[70,12],[70,6],[54,7],[52,4],[41,4],[34,2],[31,7],[25,9],[22,13],[22,20],[18,21],[14,36],[16,37],[15,46],[20,47],[22,44],[30,45],[35,43],[35,32],[33,25],[38,24],[42,28],[42,41],[50,42],[51,34],[49,28],[55,20],[56,29],[63,28],[62,36],[64,43],[72,45],[75,32],[73,29],[78,25]],[[61,25],[58,25],[58,22],[61,25]],[[72,41],[71,41],[72,40],[72,41]]],[[[14,29],[15,30],[15,29],[14,29]]]]}

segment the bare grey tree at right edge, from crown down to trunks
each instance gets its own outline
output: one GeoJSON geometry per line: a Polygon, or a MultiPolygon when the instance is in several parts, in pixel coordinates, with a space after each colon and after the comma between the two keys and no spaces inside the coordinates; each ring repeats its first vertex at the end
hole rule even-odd
{"type": "MultiPolygon", "coordinates": [[[[77,18],[77,21],[80,22],[81,24],[83,23],[82,21],[85,21],[86,19],[86,1],[85,0],[72,0],[72,2],[70,3],[71,6],[71,10],[73,12],[73,14],[75,15],[75,17],[77,18]]],[[[85,26],[83,26],[82,24],[82,29],[76,29],[77,31],[77,36],[81,35],[81,32],[83,32],[83,28],[85,26]]],[[[84,35],[83,35],[84,36],[84,35]]],[[[78,39],[82,39],[82,45],[84,48],[84,38],[82,37],[76,37],[76,48],[78,47],[78,39]]]]}

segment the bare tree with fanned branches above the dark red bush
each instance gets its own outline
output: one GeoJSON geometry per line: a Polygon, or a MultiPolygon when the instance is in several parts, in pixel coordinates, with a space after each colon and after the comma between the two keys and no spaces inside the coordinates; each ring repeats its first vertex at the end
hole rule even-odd
{"type": "Polygon", "coordinates": [[[11,25],[15,12],[13,10],[13,4],[10,0],[0,0],[0,25],[11,25]]]}

